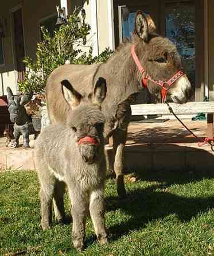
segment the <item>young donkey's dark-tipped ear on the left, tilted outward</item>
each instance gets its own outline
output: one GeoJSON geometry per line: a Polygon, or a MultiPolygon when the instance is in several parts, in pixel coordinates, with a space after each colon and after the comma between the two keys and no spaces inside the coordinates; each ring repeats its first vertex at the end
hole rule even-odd
{"type": "Polygon", "coordinates": [[[61,81],[63,96],[72,109],[76,108],[83,96],[77,92],[68,80],[61,81]]]}

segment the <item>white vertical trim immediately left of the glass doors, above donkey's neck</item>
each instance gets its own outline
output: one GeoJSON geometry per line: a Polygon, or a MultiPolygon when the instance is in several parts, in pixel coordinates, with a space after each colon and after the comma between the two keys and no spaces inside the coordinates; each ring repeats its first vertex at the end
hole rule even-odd
{"type": "Polygon", "coordinates": [[[109,47],[112,51],[115,50],[115,36],[114,36],[114,3],[113,0],[108,0],[108,37],[109,47]]]}

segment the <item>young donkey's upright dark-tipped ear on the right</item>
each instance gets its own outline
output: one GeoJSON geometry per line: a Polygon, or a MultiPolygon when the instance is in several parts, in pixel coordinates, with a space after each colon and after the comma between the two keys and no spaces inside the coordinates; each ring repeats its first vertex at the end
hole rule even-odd
{"type": "Polygon", "coordinates": [[[101,107],[103,100],[106,98],[106,91],[106,79],[99,77],[94,88],[93,104],[101,107]]]}

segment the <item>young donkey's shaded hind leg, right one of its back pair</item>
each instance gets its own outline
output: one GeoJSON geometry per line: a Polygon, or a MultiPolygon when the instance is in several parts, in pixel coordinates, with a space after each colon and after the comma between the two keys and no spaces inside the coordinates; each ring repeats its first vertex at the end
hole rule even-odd
{"type": "Polygon", "coordinates": [[[53,195],[53,208],[55,210],[55,219],[57,222],[64,222],[65,220],[64,193],[65,183],[57,180],[53,195]]]}

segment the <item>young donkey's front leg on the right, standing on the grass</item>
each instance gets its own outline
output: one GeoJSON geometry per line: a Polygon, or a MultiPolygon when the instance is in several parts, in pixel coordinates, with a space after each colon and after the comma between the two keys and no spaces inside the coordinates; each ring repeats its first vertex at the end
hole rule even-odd
{"type": "Polygon", "coordinates": [[[104,219],[104,186],[91,192],[89,210],[98,240],[102,244],[107,243],[104,219]]]}

